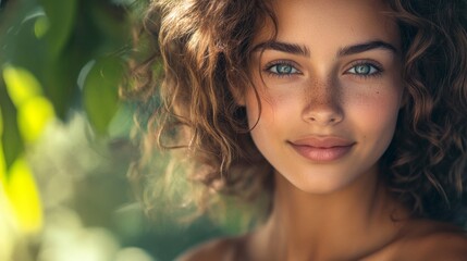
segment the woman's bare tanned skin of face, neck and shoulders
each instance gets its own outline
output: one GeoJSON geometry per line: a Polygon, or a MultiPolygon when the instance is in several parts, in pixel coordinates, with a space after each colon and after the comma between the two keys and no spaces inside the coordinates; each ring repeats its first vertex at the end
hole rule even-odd
{"type": "Polygon", "coordinates": [[[273,211],[255,232],[181,260],[467,260],[456,227],[409,219],[378,161],[405,104],[400,35],[381,0],[278,0],[259,32],[245,105],[275,170],[273,211]]]}

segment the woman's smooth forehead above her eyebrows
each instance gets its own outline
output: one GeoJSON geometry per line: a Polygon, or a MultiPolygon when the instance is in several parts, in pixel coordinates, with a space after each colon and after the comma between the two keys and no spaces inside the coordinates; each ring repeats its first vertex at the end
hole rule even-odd
{"type": "MultiPolygon", "coordinates": [[[[380,39],[400,45],[396,23],[383,0],[275,0],[276,39],[296,44],[341,45],[380,39]]],[[[270,39],[271,23],[256,42],[270,39]]]]}

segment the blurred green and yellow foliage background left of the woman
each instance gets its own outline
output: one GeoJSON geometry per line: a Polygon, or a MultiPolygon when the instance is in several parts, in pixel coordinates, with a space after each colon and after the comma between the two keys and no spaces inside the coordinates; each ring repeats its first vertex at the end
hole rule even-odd
{"type": "Polygon", "coordinates": [[[119,85],[146,4],[0,1],[0,260],[172,260],[236,232],[162,209],[153,222],[132,197],[135,104],[119,85]]]}

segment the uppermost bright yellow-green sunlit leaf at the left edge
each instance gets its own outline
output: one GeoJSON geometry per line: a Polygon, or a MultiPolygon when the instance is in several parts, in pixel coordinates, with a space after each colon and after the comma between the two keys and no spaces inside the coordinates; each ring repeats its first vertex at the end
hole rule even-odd
{"type": "Polygon", "coordinates": [[[16,108],[32,97],[41,94],[37,78],[27,70],[7,65],[3,69],[7,91],[16,108]]]}

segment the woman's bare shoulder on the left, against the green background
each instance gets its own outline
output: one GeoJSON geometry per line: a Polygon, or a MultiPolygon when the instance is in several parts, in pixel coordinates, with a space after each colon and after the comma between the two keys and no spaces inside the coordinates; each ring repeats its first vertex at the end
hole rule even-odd
{"type": "Polygon", "coordinates": [[[184,252],[177,261],[237,260],[243,252],[244,237],[229,237],[202,243],[184,252]]]}

